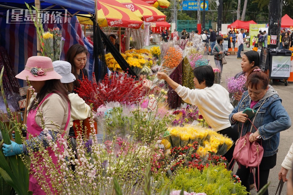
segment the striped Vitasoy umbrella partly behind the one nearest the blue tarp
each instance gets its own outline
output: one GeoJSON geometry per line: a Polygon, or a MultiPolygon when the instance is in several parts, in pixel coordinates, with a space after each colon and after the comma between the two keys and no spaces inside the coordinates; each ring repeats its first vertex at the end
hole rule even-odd
{"type": "Polygon", "coordinates": [[[165,21],[166,15],[164,15],[157,8],[154,8],[150,4],[141,0],[116,0],[123,4],[130,11],[135,13],[139,18],[145,22],[157,22],[165,21]]]}

